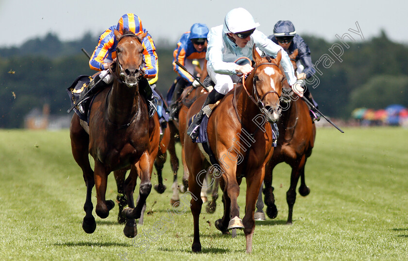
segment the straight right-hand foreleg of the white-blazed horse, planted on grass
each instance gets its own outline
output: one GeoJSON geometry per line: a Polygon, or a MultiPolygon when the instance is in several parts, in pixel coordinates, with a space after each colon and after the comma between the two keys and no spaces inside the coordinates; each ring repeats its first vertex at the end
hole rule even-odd
{"type": "Polygon", "coordinates": [[[246,202],[245,202],[245,216],[243,218],[243,224],[245,226],[244,233],[246,239],[246,252],[252,252],[252,237],[255,230],[255,204],[256,199],[258,198],[259,189],[262,185],[262,180],[265,172],[265,166],[261,169],[254,171],[251,175],[251,178],[247,178],[247,190],[246,190],[246,202]]]}

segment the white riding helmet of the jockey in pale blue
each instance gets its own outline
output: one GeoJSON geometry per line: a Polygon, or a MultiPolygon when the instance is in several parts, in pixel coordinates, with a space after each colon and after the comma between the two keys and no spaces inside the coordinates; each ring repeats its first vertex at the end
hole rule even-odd
{"type": "Polygon", "coordinates": [[[258,27],[254,17],[242,7],[232,9],[227,13],[224,19],[224,33],[245,32],[258,27]]]}

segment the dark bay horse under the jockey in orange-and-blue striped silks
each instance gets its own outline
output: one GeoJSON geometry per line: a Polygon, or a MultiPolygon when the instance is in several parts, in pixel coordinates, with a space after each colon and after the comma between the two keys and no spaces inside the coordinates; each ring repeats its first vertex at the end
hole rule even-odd
{"type": "Polygon", "coordinates": [[[135,237],[141,210],[149,195],[153,160],[157,155],[159,143],[159,123],[157,116],[149,118],[144,98],[138,91],[143,64],[142,39],[146,33],[135,35],[115,30],[118,41],[116,68],[109,69],[114,75],[111,88],[99,92],[93,100],[89,114],[89,125],[74,114],[70,124],[72,154],[81,167],[85,185],[85,217],[82,227],[86,233],[96,228],[92,215],[92,188],[96,187],[96,214],[101,218],[109,215],[114,207],[112,200],[105,199],[107,176],[131,166],[129,177],[124,184],[124,192],[131,209],[125,209],[128,219],[123,229],[127,237],[135,237]],[[95,160],[94,170],[90,167],[88,154],[95,160]],[[139,201],[136,208],[133,191],[137,176],[140,177],[139,201]]]}

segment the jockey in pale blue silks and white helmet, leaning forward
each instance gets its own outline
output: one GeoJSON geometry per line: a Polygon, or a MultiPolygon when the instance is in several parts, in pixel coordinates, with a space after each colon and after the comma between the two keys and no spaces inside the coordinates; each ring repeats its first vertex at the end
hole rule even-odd
{"type": "MultiPolygon", "coordinates": [[[[221,100],[225,94],[238,82],[237,73],[249,74],[253,68],[251,65],[238,65],[235,61],[240,57],[252,57],[254,44],[261,51],[276,57],[282,51],[280,64],[288,79],[293,91],[303,96],[303,88],[297,83],[293,66],[289,56],[283,52],[283,48],[272,42],[262,32],[255,28],[259,23],[255,23],[254,17],[244,8],[236,8],[227,13],[224,24],[211,28],[208,33],[207,46],[207,72],[211,80],[215,83],[214,89],[208,94],[203,104],[203,108],[208,104],[214,104],[221,100]]],[[[187,135],[194,141],[199,134],[201,120],[204,117],[203,108],[188,127],[187,135]]]]}

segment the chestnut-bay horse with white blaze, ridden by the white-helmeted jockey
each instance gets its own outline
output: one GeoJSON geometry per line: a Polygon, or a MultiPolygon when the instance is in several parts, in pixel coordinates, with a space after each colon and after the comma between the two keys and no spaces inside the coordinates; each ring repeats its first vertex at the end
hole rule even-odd
{"type": "MultiPolygon", "coordinates": [[[[272,128],[269,123],[278,120],[279,98],[284,76],[279,70],[281,52],[276,59],[261,57],[253,49],[255,68],[244,84],[228,92],[212,112],[207,132],[211,151],[218,159],[214,165],[221,172],[220,186],[223,191],[224,214],[215,222],[222,233],[229,229],[244,229],[246,252],[252,252],[255,230],[255,203],[265,174],[266,164],[273,153],[272,128]],[[259,119],[263,121],[259,122],[259,119]],[[255,123],[256,122],[256,123],[255,123]],[[239,218],[238,194],[242,178],[246,178],[245,216],[239,218]]],[[[187,113],[191,118],[202,107],[206,95],[192,104],[187,113]]],[[[187,124],[180,125],[187,130],[187,124]]],[[[194,219],[192,251],[201,251],[199,216],[203,201],[200,197],[206,159],[197,143],[187,135],[184,138],[188,188],[192,193],[190,208],[194,219]]]]}

